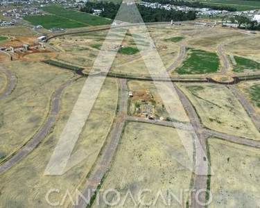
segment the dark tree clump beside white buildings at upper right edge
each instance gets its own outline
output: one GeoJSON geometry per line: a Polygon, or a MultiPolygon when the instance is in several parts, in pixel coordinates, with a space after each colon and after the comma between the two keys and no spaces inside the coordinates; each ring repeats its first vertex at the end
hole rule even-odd
{"type": "Polygon", "coordinates": [[[238,27],[241,28],[242,26],[250,31],[260,31],[260,23],[256,20],[250,20],[248,17],[243,16],[225,16],[222,19],[222,24],[224,21],[230,21],[232,24],[238,24],[238,27]]]}

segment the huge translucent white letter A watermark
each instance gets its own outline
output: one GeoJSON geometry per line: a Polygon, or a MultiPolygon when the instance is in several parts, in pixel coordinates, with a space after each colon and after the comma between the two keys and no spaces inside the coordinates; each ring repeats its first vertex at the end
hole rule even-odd
{"type": "Polygon", "coordinates": [[[183,158],[175,159],[183,166],[189,168],[189,170],[194,171],[196,174],[207,175],[207,155],[200,144],[200,139],[198,138],[200,134],[197,132],[197,126],[191,125],[189,117],[187,116],[187,113],[182,105],[182,101],[180,101],[180,97],[171,82],[171,78],[168,76],[159,53],[155,48],[155,44],[148,33],[146,25],[144,24],[135,3],[122,3],[114,23],[116,26],[112,26],[110,31],[107,33],[101,52],[98,54],[91,71],[91,73],[94,73],[97,69],[101,70],[103,76],[89,76],[87,78],[85,85],[78,96],[76,105],[73,107],[71,115],[69,116],[62,134],[60,135],[58,144],[55,147],[44,174],[62,175],[62,173],[66,172],[69,168],[75,166],[87,157],[87,153],[85,153],[84,150],[78,150],[73,155],[71,155],[71,153],[73,152],[73,148],[78,140],[80,132],[83,130],[98,93],[101,90],[105,77],[114,62],[119,46],[121,46],[121,43],[123,42],[125,33],[129,30],[130,33],[132,33],[132,37],[134,38],[139,51],[147,52],[146,58],[143,57],[144,63],[150,73],[151,78],[153,78],[153,82],[157,87],[159,96],[161,96],[169,116],[177,121],[189,123],[188,134],[187,132],[180,130],[179,126],[175,124],[176,131],[182,141],[182,145],[189,156],[189,161],[183,158]],[[135,32],[133,33],[131,28],[134,26],[137,29],[135,29],[135,32]],[[140,39],[146,40],[146,42],[149,42],[150,44],[144,46],[144,44],[140,43],[140,39]],[[194,144],[196,146],[195,168],[193,164],[194,144]]]}

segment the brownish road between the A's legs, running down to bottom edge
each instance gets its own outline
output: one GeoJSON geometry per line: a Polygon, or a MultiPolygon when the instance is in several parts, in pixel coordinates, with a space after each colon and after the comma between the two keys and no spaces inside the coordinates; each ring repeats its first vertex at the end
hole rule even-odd
{"type": "MultiPolygon", "coordinates": [[[[128,106],[128,94],[126,91],[126,80],[120,80],[121,85],[121,98],[120,98],[120,106],[119,106],[119,113],[116,118],[116,122],[114,123],[114,127],[110,132],[110,138],[105,146],[104,152],[101,155],[100,159],[96,164],[96,167],[90,175],[89,180],[87,180],[86,187],[83,191],[83,196],[90,200],[91,196],[94,194],[94,191],[98,188],[98,184],[100,184],[107,168],[110,167],[112,162],[112,157],[116,151],[116,147],[119,144],[119,140],[121,138],[121,133],[123,131],[123,126],[125,124],[125,117],[127,113],[127,106],[128,106]],[[89,195],[90,193],[90,195],[89,195]]],[[[73,205],[73,208],[85,208],[87,206],[87,202],[83,198],[79,198],[78,205],[73,205]]]]}

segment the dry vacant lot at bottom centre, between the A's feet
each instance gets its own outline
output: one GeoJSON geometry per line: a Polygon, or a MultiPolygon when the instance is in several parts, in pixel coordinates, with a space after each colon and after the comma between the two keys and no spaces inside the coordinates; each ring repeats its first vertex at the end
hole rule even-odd
{"type": "MultiPolygon", "coordinates": [[[[177,198],[180,198],[180,194],[183,193],[181,201],[185,207],[187,192],[182,191],[190,189],[191,172],[175,158],[188,159],[174,128],[130,122],[125,127],[112,168],[107,173],[101,189],[104,191],[116,189],[121,194],[121,200],[127,191],[131,191],[132,196],[137,200],[139,191],[150,189],[151,193],[142,195],[145,202],[154,202],[160,190],[166,199],[168,199],[168,191],[174,193],[177,198]]],[[[101,192],[102,196],[103,192],[101,192]]],[[[107,200],[114,202],[116,197],[109,194],[107,200]]],[[[101,205],[96,205],[94,202],[94,207],[106,207],[106,205],[101,200],[101,205]]],[[[128,195],[125,204],[116,207],[135,206],[128,195]]],[[[137,207],[145,206],[139,204],[137,207]]],[[[154,207],[166,207],[166,205],[159,197],[154,207]]],[[[171,207],[181,206],[171,198],[171,207]]]]}

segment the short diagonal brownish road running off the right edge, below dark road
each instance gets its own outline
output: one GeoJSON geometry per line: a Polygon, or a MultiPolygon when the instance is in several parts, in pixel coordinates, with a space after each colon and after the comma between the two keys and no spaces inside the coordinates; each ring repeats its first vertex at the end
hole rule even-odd
{"type": "Polygon", "coordinates": [[[243,96],[243,94],[241,94],[241,92],[239,92],[239,90],[236,89],[235,86],[230,86],[229,88],[231,89],[232,93],[236,96],[236,98],[239,99],[240,103],[243,105],[248,114],[250,114],[254,125],[257,127],[258,130],[260,130],[260,116],[254,109],[250,101],[248,101],[247,98],[245,98],[245,96],[243,96]]]}

